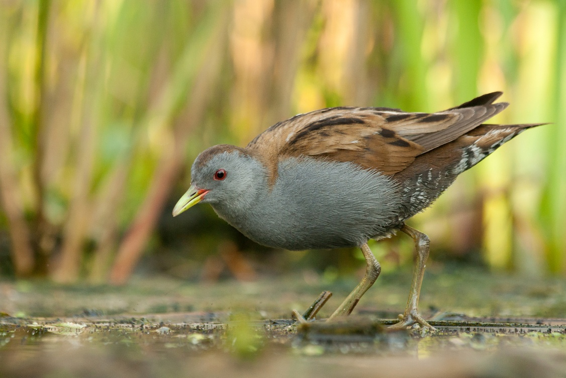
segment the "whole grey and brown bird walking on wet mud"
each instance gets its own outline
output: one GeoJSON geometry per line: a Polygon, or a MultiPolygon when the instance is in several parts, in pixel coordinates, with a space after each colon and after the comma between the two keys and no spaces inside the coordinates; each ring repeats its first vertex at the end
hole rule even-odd
{"type": "Polygon", "coordinates": [[[379,276],[367,241],[402,231],[413,238],[417,261],[405,312],[392,327],[432,328],[418,313],[430,242],[405,221],[503,143],[543,125],[483,124],[509,105],[494,103],[501,94],[431,114],[357,107],[298,114],[245,148],[201,152],[173,216],[210,203],[220,218],[268,247],[361,248],[365,277],[329,320],[349,315],[379,276]]]}

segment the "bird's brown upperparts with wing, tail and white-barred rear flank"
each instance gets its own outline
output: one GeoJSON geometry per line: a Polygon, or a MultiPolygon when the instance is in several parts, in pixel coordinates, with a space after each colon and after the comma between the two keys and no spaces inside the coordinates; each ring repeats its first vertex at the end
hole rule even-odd
{"type": "Polygon", "coordinates": [[[278,122],[246,147],[265,156],[269,180],[278,163],[311,156],[351,162],[390,177],[401,188],[402,205],[391,227],[425,209],[456,177],[523,130],[543,125],[489,125],[507,108],[493,92],[437,113],[392,108],[338,107],[298,114],[278,122]],[[396,224],[394,224],[396,223],[396,224]]]}

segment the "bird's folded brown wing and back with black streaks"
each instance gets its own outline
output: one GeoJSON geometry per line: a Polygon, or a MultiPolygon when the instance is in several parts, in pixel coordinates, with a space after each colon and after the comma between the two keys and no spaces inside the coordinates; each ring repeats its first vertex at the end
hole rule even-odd
{"type": "Polygon", "coordinates": [[[500,95],[483,95],[433,114],[390,108],[321,109],[271,126],[246,149],[261,152],[273,170],[282,156],[314,156],[393,175],[418,155],[453,141],[502,111],[507,103],[492,104],[500,95]]]}

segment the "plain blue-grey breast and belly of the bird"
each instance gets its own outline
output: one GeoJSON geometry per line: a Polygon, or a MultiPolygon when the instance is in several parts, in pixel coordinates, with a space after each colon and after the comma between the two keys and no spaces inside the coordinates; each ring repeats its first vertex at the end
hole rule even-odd
{"type": "Polygon", "coordinates": [[[353,163],[286,159],[276,184],[239,219],[239,230],[290,250],[354,247],[386,233],[400,209],[397,186],[353,163]]]}

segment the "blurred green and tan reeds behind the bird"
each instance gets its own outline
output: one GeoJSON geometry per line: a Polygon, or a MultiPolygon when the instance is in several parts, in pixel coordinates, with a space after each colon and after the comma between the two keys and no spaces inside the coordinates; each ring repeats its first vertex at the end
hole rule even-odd
{"type": "MultiPolygon", "coordinates": [[[[566,273],[566,2],[0,0],[0,274],[126,282],[363,271],[281,252],[197,206],[192,160],[337,105],[434,112],[491,91],[530,130],[411,225],[433,264],[566,273]]],[[[408,267],[407,237],[371,245],[408,267]]]]}

